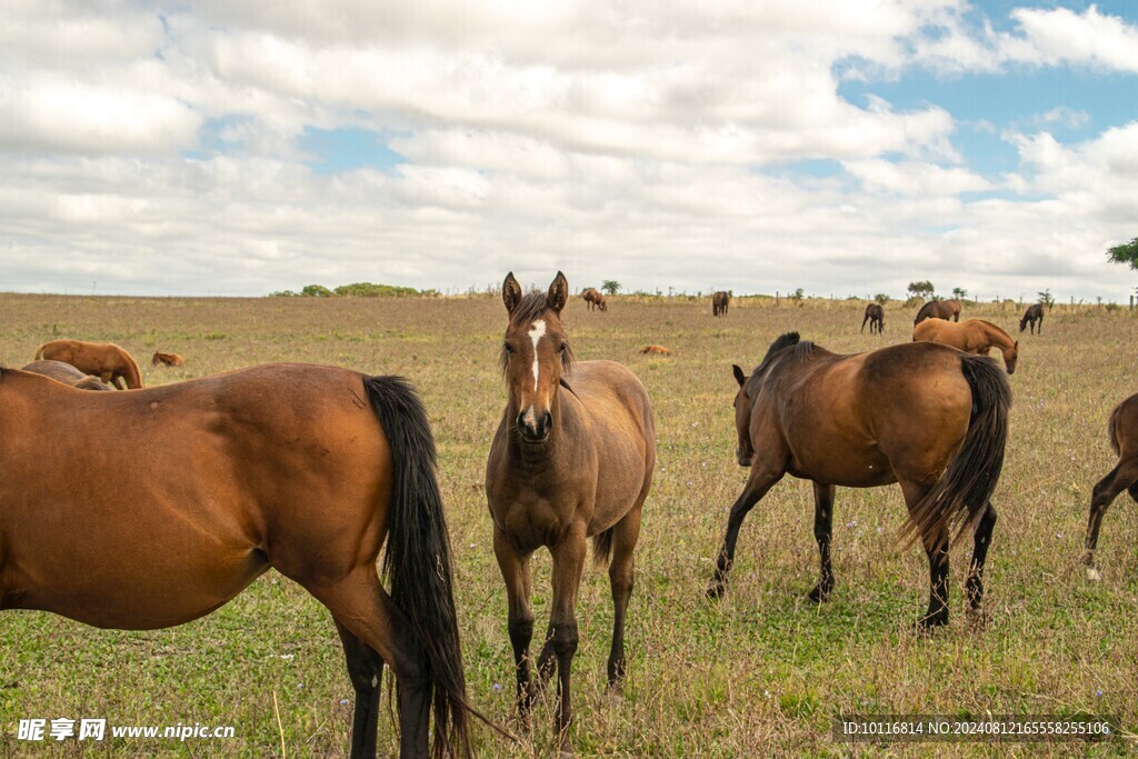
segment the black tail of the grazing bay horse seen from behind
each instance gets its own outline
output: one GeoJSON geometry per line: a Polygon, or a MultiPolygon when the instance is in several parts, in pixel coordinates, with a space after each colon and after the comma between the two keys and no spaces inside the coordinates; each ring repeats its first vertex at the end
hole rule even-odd
{"type": "Polygon", "coordinates": [[[957,543],[975,528],[1004,468],[1012,387],[999,365],[987,356],[964,354],[960,371],[972,388],[972,418],[964,445],[932,490],[909,515],[902,535],[913,543],[956,528],[957,543]]]}

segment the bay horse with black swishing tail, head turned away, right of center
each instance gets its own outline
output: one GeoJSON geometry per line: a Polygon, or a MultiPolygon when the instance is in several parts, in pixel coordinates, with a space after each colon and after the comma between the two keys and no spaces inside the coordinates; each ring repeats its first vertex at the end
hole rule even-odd
{"type": "Polygon", "coordinates": [[[822,576],[809,593],[830,597],[834,492],[898,482],[908,508],[901,535],[929,556],[926,634],[948,621],[949,534],[975,534],[966,589],[983,602],[983,570],[996,525],[991,494],[1004,464],[1012,391],[991,358],[933,343],[905,343],[836,355],[798,332],[776,339],[751,372],[733,366],[736,456],[750,476],[731,508],[723,548],[708,586],[726,592],[743,519],[786,473],[814,482],[814,536],[822,576]]]}

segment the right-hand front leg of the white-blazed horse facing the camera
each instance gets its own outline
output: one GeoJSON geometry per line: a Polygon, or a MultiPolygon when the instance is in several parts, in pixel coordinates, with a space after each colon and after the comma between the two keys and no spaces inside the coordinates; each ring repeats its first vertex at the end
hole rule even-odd
{"type": "Polygon", "coordinates": [[[550,613],[552,630],[542,655],[537,660],[538,670],[551,657],[556,657],[558,667],[558,713],[553,726],[558,733],[561,757],[572,756],[569,741],[569,725],[572,723],[572,696],[569,675],[572,658],[577,653],[577,591],[585,569],[585,526],[570,528],[564,538],[550,550],[553,554],[553,610],[550,613]]]}

